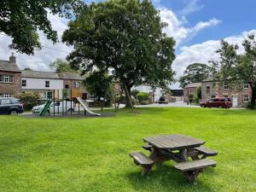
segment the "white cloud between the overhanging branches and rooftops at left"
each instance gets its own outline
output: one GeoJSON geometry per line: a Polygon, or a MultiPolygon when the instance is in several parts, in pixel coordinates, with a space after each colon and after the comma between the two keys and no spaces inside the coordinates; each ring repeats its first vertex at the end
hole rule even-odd
{"type": "MultiPolygon", "coordinates": [[[[43,47],[43,49],[35,51],[34,55],[15,53],[15,56],[17,57],[16,61],[20,69],[30,67],[33,70],[49,71],[50,62],[55,61],[57,58],[65,59],[68,53],[73,49],[72,47],[67,47],[65,44],[61,43],[61,35],[67,28],[67,20],[57,15],[48,15],[48,17],[53,28],[58,32],[59,43],[53,44],[44,36],[43,32],[39,32],[41,44],[52,49],[43,47]],[[63,52],[56,51],[54,49],[61,50],[63,52]]],[[[15,52],[15,50],[10,50],[8,47],[9,44],[11,44],[11,38],[0,35],[0,42],[0,59],[9,60],[10,53],[15,52]]]]}

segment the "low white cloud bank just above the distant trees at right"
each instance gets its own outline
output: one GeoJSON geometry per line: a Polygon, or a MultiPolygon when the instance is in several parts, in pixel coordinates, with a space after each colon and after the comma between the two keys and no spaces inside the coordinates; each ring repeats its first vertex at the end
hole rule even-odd
{"type": "MultiPolygon", "coordinates": [[[[242,32],[240,35],[224,38],[224,40],[228,41],[230,44],[238,44],[240,46],[238,53],[241,54],[244,51],[244,49],[242,49],[241,43],[248,34],[252,33],[256,35],[256,30],[242,32]]],[[[182,76],[185,68],[191,63],[201,62],[208,64],[208,61],[218,61],[219,55],[215,53],[215,51],[219,48],[220,40],[209,40],[202,44],[183,46],[180,49],[181,53],[177,55],[177,58],[172,65],[173,70],[177,72],[176,78],[182,76]]],[[[177,89],[178,84],[173,84],[172,88],[177,89]]]]}

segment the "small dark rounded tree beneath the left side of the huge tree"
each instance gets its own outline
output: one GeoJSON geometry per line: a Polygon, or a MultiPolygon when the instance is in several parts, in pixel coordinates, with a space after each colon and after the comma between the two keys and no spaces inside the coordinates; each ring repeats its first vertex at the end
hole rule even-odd
{"type": "Polygon", "coordinates": [[[109,91],[111,90],[112,79],[108,73],[102,71],[89,73],[83,84],[91,95],[97,96],[98,101],[101,101],[101,97],[106,99],[108,95],[111,95],[109,91]]]}

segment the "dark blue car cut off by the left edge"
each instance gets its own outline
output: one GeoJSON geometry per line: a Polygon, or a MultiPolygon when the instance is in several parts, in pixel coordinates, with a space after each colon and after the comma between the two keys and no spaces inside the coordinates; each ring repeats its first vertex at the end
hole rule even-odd
{"type": "Polygon", "coordinates": [[[1,114],[19,114],[23,113],[23,105],[19,99],[0,97],[0,113],[1,114]]]}

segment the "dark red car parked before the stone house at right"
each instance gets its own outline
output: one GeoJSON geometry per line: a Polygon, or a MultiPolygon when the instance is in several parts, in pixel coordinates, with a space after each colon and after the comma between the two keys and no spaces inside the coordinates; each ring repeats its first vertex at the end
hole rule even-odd
{"type": "Polygon", "coordinates": [[[230,98],[215,98],[200,103],[201,108],[231,108],[230,98]]]}

